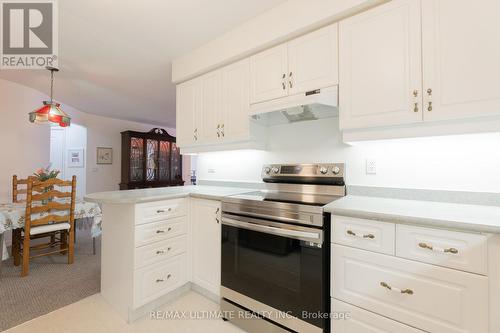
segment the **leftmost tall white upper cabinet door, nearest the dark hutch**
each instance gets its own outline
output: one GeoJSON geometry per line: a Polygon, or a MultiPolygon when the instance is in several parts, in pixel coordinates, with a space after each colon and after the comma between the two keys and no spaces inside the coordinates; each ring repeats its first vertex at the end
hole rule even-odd
{"type": "Polygon", "coordinates": [[[195,144],[201,114],[201,81],[194,79],[177,85],[176,135],[179,146],[195,144]]]}

